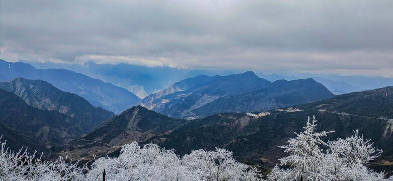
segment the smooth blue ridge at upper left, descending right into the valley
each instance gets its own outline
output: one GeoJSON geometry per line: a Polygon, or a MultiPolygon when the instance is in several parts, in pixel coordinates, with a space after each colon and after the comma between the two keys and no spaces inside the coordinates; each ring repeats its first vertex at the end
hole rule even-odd
{"type": "Polygon", "coordinates": [[[67,69],[36,69],[22,62],[0,60],[0,81],[24,77],[45,80],[65,92],[75,93],[94,106],[120,113],[137,103],[138,98],[124,88],[67,69]]]}

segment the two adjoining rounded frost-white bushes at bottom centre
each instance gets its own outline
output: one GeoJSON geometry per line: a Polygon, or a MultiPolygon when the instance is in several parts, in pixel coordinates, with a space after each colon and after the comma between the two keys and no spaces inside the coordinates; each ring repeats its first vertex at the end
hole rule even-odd
{"type": "Polygon", "coordinates": [[[197,150],[180,159],[173,150],[147,144],[126,144],[118,158],[103,157],[93,163],[88,180],[106,170],[107,180],[257,180],[257,170],[236,162],[232,153],[197,150]]]}

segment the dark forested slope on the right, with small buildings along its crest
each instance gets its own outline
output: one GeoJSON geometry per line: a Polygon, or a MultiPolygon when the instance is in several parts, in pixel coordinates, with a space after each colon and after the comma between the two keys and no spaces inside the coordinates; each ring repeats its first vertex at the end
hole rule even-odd
{"type": "MultiPolygon", "coordinates": [[[[169,134],[144,143],[173,148],[178,154],[191,150],[221,147],[233,151],[239,161],[274,166],[286,153],[278,148],[303,130],[307,116],[319,120],[316,131],[335,130],[324,139],[353,135],[359,130],[382,149],[381,157],[371,166],[391,171],[393,168],[393,87],[344,94],[331,99],[293,106],[302,111],[271,110],[269,116],[251,117],[240,113],[221,113],[194,120],[169,134]]],[[[287,108],[282,108],[287,109],[287,108]]]]}

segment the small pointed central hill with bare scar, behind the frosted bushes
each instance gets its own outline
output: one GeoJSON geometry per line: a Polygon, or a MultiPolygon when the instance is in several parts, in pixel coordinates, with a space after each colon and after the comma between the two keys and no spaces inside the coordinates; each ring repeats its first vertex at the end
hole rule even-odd
{"type": "Polygon", "coordinates": [[[93,154],[106,155],[124,144],[168,134],[185,123],[186,120],[164,116],[141,106],[132,107],[106,120],[88,135],[73,140],[61,154],[69,153],[77,159],[92,159],[93,154]]]}

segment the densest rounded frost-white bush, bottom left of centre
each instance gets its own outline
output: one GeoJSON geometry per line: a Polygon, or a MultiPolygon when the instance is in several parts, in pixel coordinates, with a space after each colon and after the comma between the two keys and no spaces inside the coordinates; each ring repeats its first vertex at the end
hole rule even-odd
{"type": "Polygon", "coordinates": [[[97,180],[104,169],[107,180],[196,180],[173,150],[154,144],[140,148],[132,142],[122,147],[118,158],[97,159],[87,174],[88,180],[97,180]]]}

